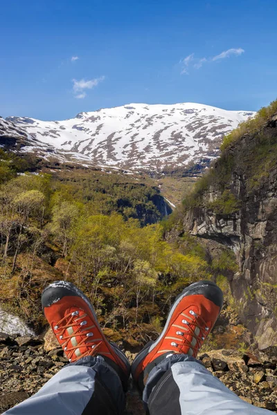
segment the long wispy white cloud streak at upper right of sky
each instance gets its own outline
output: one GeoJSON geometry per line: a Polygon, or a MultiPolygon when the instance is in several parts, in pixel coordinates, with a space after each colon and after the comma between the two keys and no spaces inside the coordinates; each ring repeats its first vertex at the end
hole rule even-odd
{"type": "Polygon", "coordinates": [[[240,56],[242,55],[242,53],[244,53],[244,49],[242,48],[237,48],[237,49],[231,48],[228,50],[224,50],[222,53],[220,53],[220,55],[216,55],[213,57],[200,57],[199,58],[199,57],[195,57],[194,53],[191,53],[184,59],[181,59],[179,62],[183,66],[181,68],[181,75],[188,75],[189,68],[199,69],[199,68],[202,68],[204,64],[215,62],[219,59],[225,59],[226,57],[231,57],[232,55],[240,56]]]}

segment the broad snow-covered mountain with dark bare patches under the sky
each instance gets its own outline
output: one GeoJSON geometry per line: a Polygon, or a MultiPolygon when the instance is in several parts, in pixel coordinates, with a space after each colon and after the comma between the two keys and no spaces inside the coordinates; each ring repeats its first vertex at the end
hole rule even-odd
{"type": "Polygon", "coordinates": [[[206,165],[217,156],[224,134],[254,114],[190,102],[128,104],[82,112],[64,121],[8,117],[6,128],[26,133],[24,151],[46,158],[51,155],[87,165],[161,171],[206,165]]]}

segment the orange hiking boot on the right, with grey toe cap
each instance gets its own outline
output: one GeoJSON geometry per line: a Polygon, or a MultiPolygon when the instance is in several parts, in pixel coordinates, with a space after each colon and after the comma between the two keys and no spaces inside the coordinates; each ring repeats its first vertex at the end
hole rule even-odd
{"type": "Polygon", "coordinates": [[[165,355],[182,353],[196,358],[220,315],[222,303],[222,291],[211,281],[195,282],[185,288],[175,299],[159,338],[146,344],[134,359],[131,367],[134,380],[143,387],[150,370],[165,355]]]}

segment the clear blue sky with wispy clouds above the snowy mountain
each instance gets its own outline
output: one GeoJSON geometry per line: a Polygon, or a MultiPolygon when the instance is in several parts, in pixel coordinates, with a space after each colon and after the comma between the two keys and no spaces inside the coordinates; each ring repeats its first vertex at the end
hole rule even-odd
{"type": "Polygon", "coordinates": [[[1,2],[0,116],[277,98],[276,0],[1,2]],[[77,59],[78,58],[78,59],[77,59]]]}

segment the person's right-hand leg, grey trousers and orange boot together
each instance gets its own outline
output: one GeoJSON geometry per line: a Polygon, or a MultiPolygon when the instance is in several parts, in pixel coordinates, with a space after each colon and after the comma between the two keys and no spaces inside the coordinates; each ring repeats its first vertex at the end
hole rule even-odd
{"type": "Polygon", "coordinates": [[[175,300],[156,342],[136,356],[132,376],[150,415],[271,413],[238,398],[196,360],[222,302],[222,291],[213,282],[191,284],[175,300]]]}

